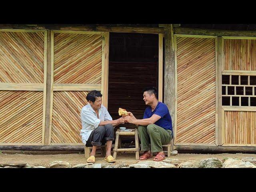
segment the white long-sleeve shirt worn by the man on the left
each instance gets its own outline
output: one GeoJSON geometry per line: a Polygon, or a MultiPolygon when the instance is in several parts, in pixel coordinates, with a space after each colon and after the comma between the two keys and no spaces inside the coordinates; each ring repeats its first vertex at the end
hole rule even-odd
{"type": "Polygon", "coordinates": [[[97,128],[101,121],[112,121],[112,117],[108,113],[107,108],[103,105],[101,105],[99,109],[99,119],[89,103],[82,108],[80,116],[82,121],[80,135],[82,136],[82,142],[84,145],[86,144],[92,130],[97,128]]]}

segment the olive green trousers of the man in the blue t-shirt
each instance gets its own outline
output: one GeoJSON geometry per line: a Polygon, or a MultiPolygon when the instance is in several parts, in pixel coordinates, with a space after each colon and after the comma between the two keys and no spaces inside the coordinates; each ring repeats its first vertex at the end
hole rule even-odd
{"type": "Polygon", "coordinates": [[[141,150],[149,151],[151,145],[151,152],[154,153],[162,151],[162,145],[170,143],[172,131],[165,130],[155,124],[149,124],[148,126],[139,125],[138,136],[141,142],[141,150]]]}

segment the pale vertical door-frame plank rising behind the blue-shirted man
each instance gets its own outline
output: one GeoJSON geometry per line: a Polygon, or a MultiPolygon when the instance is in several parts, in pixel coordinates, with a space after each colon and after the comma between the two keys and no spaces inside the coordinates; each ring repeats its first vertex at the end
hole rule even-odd
{"type": "Polygon", "coordinates": [[[163,102],[163,34],[158,35],[158,101],[163,102]]]}

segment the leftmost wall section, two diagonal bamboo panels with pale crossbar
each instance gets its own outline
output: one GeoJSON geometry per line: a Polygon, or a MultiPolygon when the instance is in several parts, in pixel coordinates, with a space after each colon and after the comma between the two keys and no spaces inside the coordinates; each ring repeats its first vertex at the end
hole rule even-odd
{"type": "Polygon", "coordinates": [[[0,145],[42,145],[44,32],[0,32],[0,145]]]}

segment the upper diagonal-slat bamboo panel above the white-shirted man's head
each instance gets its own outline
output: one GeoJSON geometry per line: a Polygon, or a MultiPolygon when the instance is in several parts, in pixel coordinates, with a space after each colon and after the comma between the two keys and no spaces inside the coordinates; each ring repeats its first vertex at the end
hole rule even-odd
{"type": "Polygon", "coordinates": [[[54,33],[54,83],[101,83],[102,35],[54,33]]]}

